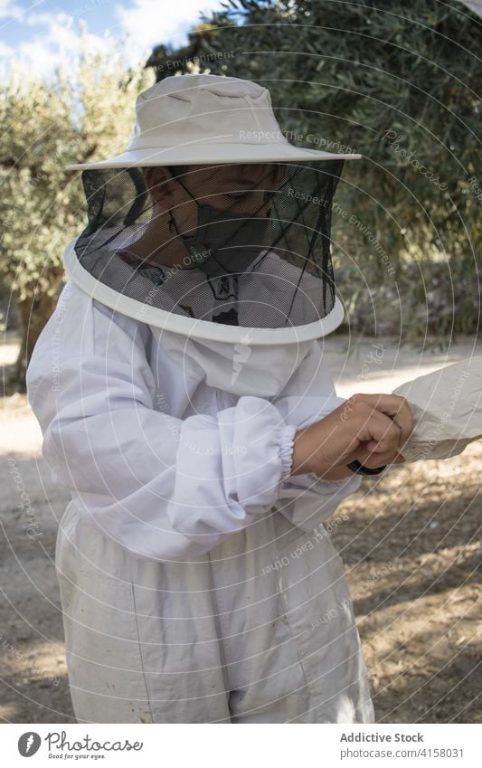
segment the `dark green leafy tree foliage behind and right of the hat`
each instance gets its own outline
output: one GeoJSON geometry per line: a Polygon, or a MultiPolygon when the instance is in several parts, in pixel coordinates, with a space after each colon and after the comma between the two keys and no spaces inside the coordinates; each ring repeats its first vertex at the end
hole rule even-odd
{"type": "Polygon", "coordinates": [[[345,164],[333,221],[355,325],[374,302],[405,337],[425,333],[427,313],[439,334],[476,330],[480,19],[456,0],[223,5],[192,33],[183,71],[191,50],[205,71],[258,81],[292,143],[364,156],[345,164]]]}

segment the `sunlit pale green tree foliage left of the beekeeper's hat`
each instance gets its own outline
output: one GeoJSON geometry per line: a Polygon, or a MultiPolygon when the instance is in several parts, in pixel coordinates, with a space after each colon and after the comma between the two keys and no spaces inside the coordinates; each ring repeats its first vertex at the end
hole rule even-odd
{"type": "Polygon", "coordinates": [[[0,272],[26,305],[21,356],[52,310],[63,249],[85,223],[79,172],[65,166],[125,146],[137,92],[153,82],[152,72],[142,65],[128,71],[110,51],[83,52],[51,81],[12,71],[0,84],[0,272]]]}

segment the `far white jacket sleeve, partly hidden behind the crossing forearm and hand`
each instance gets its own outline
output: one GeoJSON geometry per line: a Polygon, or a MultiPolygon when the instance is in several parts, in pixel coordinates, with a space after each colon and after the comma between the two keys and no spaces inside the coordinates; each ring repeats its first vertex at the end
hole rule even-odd
{"type": "MultiPolygon", "coordinates": [[[[336,394],[321,342],[313,343],[307,357],[273,403],[285,423],[296,424],[297,429],[320,421],[345,403],[345,398],[336,394]]],[[[356,474],[339,480],[320,479],[314,473],[288,477],[281,485],[274,506],[294,526],[311,531],[331,517],[340,502],[355,493],[361,484],[362,477],[356,474]]]]}

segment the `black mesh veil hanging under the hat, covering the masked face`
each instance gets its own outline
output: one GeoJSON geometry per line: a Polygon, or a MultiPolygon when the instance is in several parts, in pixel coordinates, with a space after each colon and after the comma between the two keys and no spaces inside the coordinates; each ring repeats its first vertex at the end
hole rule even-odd
{"type": "Polygon", "coordinates": [[[84,170],[88,224],[74,250],[96,280],[151,307],[251,328],[313,323],[335,304],[343,164],[84,170]]]}

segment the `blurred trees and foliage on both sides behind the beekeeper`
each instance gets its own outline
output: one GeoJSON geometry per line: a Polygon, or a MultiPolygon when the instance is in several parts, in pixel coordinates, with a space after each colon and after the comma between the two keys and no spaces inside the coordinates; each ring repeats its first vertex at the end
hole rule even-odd
{"type": "Polygon", "coordinates": [[[363,154],[345,164],[333,213],[351,329],[441,344],[477,335],[480,52],[481,20],[457,0],[230,0],[136,69],[119,52],[86,53],[49,81],[12,71],[0,84],[0,270],[5,322],[23,328],[15,385],[84,222],[79,173],[65,165],[121,151],[137,92],[193,71],[269,88],[293,144],[363,154]]]}

